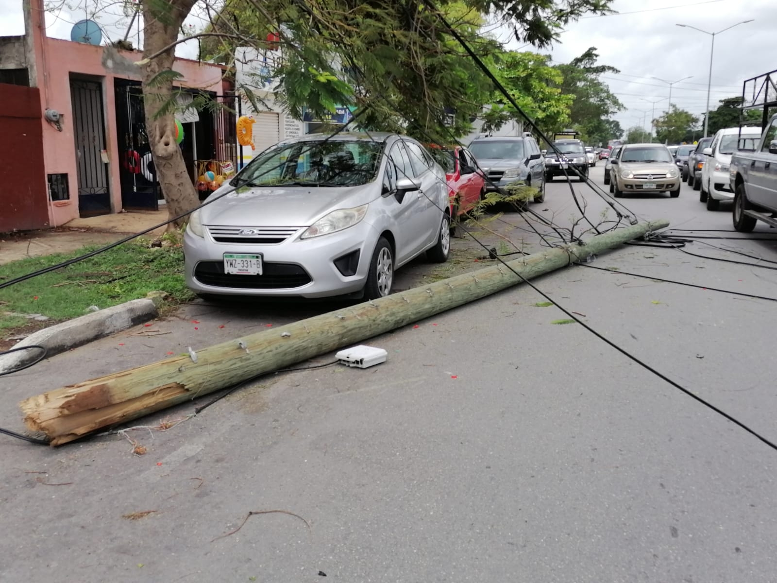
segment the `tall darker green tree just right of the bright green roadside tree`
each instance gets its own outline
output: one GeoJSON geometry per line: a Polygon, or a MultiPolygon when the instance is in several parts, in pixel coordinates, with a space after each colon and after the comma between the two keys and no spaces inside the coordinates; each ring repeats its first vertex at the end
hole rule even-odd
{"type": "Polygon", "coordinates": [[[598,58],[596,47],[591,47],[566,65],[556,65],[563,76],[563,92],[574,97],[570,108],[573,127],[580,132],[581,139],[591,144],[617,137],[604,138],[620,129],[620,124],[612,125],[609,117],[623,109],[620,100],[599,79],[605,73],[619,71],[609,65],[598,65],[598,58]]]}

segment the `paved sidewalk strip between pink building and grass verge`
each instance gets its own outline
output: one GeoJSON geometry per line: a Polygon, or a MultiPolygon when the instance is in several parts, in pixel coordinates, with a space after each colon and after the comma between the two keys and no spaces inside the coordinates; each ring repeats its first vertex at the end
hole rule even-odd
{"type": "MultiPolygon", "coordinates": [[[[167,218],[166,208],[159,211],[132,211],[115,215],[75,218],[56,229],[12,233],[0,239],[0,265],[25,257],[68,253],[88,245],[113,243],[130,233],[140,232],[167,218]]],[[[160,227],[146,236],[156,238],[165,232],[160,227]]]]}

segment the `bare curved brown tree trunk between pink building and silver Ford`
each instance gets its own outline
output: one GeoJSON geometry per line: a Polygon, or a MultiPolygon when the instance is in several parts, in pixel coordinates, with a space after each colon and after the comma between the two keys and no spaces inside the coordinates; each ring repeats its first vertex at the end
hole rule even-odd
{"type": "MultiPolygon", "coordinates": [[[[143,2],[145,23],[143,58],[146,59],[162,51],[142,66],[142,82],[148,145],[151,147],[156,178],[167,202],[169,218],[190,211],[200,204],[197,190],[186,171],[183,153],[176,144],[175,114],[169,106],[166,112],[160,111],[173,97],[173,79],[157,77],[159,72],[172,71],[176,49],[175,47],[170,47],[166,51],[164,49],[178,38],[183,19],[189,15],[195,2],[196,0],[169,0],[169,2],[144,0],[143,2]]],[[[170,226],[181,226],[185,222],[186,218],[183,218],[170,226]]]]}

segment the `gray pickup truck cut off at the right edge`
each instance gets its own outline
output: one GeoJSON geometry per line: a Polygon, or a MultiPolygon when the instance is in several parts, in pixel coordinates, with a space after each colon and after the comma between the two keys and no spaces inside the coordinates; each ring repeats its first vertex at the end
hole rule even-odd
{"type": "Polygon", "coordinates": [[[733,153],[730,178],[734,229],[752,232],[758,221],[777,227],[777,115],[753,151],[733,153]]]}

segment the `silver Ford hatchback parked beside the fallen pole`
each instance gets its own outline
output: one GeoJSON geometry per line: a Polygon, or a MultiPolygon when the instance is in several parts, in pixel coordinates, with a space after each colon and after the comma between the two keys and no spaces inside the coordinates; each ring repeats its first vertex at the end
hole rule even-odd
{"type": "Polygon", "coordinates": [[[193,292],[379,298],[421,253],[448,260],[448,187],[426,150],[396,134],[327,138],[269,148],[192,213],[193,292]]]}

